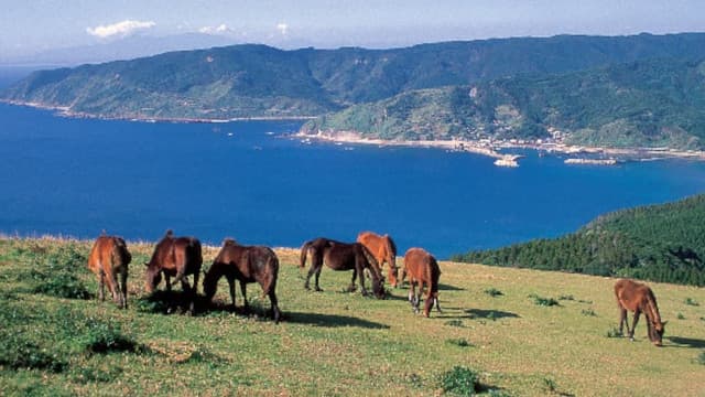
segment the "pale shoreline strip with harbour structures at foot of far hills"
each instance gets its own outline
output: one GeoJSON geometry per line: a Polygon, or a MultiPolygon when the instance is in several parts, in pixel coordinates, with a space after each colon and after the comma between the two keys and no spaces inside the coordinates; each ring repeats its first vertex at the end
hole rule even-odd
{"type": "MultiPolygon", "coordinates": [[[[20,101],[0,99],[0,103],[12,106],[25,106],[36,109],[54,110],[56,116],[68,118],[85,118],[99,120],[127,120],[135,122],[194,122],[194,124],[226,124],[232,121],[286,121],[286,120],[312,120],[315,116],[253,116],[232,117],[227,119],[210,118],[174,118],[174,117],[107,117],[69,110],[65,106],[53,106],[34,101],[20,101]]],[[[495,159],[497,167],[519,167],[521,154],[502,153],[507,149],[529,149],[543,153],[557,153],[570,155],[564,160],[565,164],[572,165],[618,165],[627,161],[653,161],[666,159],[684,159],[705,161],[705,151],[702,150],[677,150],[672,148],[608,148],[587,147],[570,144],[556,141],[529,141],[529,140],[388,140],[378,138],[365,138],[357,131],[322,131],[316,133],[300,130],[291,137],[302,139],[302,141],[317,140],[332,143],[350,144],[372,144],[378,147],[410,147],[410,148],[438,148],[448,151],[468,152],[481,154],[495,159]]]]}

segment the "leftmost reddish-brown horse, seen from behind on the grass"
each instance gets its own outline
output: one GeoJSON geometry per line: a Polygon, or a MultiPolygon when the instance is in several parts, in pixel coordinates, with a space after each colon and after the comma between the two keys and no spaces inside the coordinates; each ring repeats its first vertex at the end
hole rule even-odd
{"type": "Polygon", "coordinates": [[[128,265],[132,256],[127,244],[120,237],[106,236],[105,232],[96,239],[88,256],[88,269],[98,276],[100,287],[98,297],[106,300],[106,280],[112,293],[112,301],[120,308],[128,307],[128,265]],[[120,275],[120,283],[118,283],[120,275]]]}

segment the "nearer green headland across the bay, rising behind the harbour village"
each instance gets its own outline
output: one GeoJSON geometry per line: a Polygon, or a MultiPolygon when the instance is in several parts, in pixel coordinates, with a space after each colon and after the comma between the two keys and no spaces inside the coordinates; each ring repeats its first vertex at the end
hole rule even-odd
{"type": "Polygon", "coordinates": [[[322,116],[304,130],[382,139],[534,139],[568,143],[705,146],[705,62],[638,61],[551,76],[406,92],[322,116]]]}

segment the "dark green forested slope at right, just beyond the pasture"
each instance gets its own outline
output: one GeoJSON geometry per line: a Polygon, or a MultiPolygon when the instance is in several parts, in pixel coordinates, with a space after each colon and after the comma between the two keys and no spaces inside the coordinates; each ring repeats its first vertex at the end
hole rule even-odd
{"type": "Polygon", "coordinates": [[[705,286],[705,195],[618,211],[576,233],[455,260],[705,286]]]}

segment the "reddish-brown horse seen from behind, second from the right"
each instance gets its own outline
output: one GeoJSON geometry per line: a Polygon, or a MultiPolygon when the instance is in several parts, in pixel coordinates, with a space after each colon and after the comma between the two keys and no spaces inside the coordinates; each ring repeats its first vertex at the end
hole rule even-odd
{"type": "Polygon", "coordinates": [[[426,303],[424,304],[423,315],[429,316],[433,304],[435,303],[436,310],[441,313],[441,305],[438,304],[438,278],[441,277],[441,268],[433,255],[426,253],[423,248],[409,248],[404,255],[404,268],[402,269],[401,279],[409,275],[409,285],[411,290],[409,291],[409,302],[414,308],[414,312],[419,312],[419,304],[421,302],[421,294],[423,293],[424,285],[429,286],[426,292],[426,303]],[[415,293],[415,285],[419,285],[419,293],[415,293]]]}

